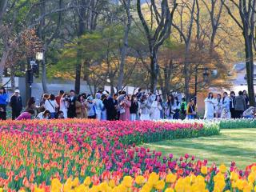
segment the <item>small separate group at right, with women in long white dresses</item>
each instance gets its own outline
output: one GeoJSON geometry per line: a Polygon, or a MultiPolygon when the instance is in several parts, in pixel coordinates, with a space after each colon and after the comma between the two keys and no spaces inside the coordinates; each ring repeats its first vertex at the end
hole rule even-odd
{"type": "Polygon", "coordinates": [[[217,94],[209,93],[205,99],[205,119],[213,118],[254,118],[256,108],[250,106],[249,97],[246,92],[239,91],[236,96],[234,91],[230,92],[230,97],[226,92],[217,94]]]}

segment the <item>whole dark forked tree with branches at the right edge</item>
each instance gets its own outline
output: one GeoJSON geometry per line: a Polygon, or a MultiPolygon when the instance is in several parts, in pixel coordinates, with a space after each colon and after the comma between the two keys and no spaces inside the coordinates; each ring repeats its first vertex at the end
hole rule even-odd
{"type": "Polygon", "coordinates": [[[244,38],[244,46],[246,52],[246,75],[247,86],[249,92],[250,106],[255,106],[254,95],[254,27],[255,27],[255,6],[256,0],[222,0],[228,14],[237,23],[242,30],[242,36],[244,38]],[[240,20],[234,15],[234,11],[230,9],[230,6],[234,6],[234,9],[239,12],[240,20]]]}

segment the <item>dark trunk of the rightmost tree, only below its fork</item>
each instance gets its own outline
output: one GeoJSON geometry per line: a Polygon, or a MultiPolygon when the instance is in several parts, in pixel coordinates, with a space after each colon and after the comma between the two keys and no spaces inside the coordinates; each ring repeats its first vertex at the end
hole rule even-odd
{"type": "Polygon", "coordinates": [[[252,36],[246,35],[244,32],[245,50],[246,50],[246,74],[247,74],[247,86],[250,99],[250,106],[255,106],[254,95],[254,54],[252,45],[252,36]]]}

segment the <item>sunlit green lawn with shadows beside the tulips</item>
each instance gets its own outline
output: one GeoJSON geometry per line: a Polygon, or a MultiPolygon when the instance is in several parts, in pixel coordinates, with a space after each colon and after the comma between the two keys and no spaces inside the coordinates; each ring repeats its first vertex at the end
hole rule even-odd
{"type": "Polygon", "coordinates": [[[186,153],[193,154],[218,165],[224,162],[230,166],[230,162],[235,161],[243,169],[256,162],[256,128],[221,130],[221,134],[216,136],[167,140],[143,146],[162,151],[164,155],[172,153],[177,158],[186,153]]]}

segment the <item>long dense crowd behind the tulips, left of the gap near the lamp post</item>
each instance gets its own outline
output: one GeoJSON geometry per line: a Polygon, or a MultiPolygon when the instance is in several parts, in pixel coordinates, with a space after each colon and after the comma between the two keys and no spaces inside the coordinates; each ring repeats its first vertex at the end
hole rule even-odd
{"type": "MultiPolygon", "coordinates": [[[[0,89],[0,118],[6,119],[6,98],[4,88],[0,89]]],[[[120,90],[110,95],[106,90],[91,94],[76,95],[74,90],[65,93],[60,90],[58,95],[43,94],[40,104],[30,98],[22,112],[22,98],[19,90],[15,90],[10,98],[12,119],[53,119],[53,118],[95,118],[98,120],[159,120],[195,118],[197,107],[194,99],[187,104],[186,99],[169,94],[166,102],[162,95],[146,93],[139,89],[136,94],[128,95],[120,90]]]]}

